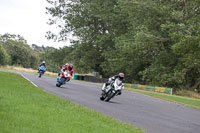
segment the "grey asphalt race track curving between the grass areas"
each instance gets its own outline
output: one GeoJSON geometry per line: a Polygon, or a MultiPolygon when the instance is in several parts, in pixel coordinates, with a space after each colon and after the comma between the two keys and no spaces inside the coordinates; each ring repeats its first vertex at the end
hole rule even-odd
{"type": "Polygon", "coordinates": [[[56,78],[22,73],[45,91],[143,129],[147,133],[200,133],[200,110],[126,91],[100,101],[101,85],[73,81],[61,88],[56,78]]]}

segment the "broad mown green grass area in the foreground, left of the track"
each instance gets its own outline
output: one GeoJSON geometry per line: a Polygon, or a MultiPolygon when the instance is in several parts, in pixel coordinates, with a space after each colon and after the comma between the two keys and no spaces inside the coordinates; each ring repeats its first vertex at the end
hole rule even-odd
{"type": "Polygon", "coordinates": [[[2,133],[142,133],[80,105],[48,94],[21,76],[0,72],[2,133]]]}

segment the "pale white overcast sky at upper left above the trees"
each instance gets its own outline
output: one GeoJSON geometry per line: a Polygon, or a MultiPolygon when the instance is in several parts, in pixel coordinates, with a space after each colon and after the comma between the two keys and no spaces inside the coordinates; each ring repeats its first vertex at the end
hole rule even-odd
{"type": "Polygon", "coordinates": [[[56,28],[47,24],[50,18],[45,7],[46,0],[0,0],[0,34],[19,34],[28,44],[63,47],[69,42],[48,41],[45,34],[56,28]]]}

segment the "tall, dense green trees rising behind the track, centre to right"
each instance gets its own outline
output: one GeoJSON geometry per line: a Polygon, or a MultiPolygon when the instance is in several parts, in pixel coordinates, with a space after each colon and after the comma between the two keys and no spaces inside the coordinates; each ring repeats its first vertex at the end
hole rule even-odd
{"type": "Polygon", "coordinates": [[[200,91],[199,0],[47,1],[49,24],[60,28],[47,38],[76,38],[40,52],[50,71],[71,62],[78,73],[124,72],[129,83],[200,91]]]}

